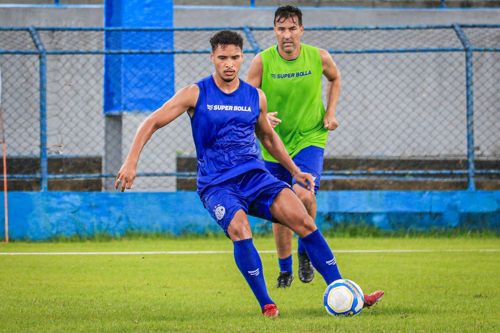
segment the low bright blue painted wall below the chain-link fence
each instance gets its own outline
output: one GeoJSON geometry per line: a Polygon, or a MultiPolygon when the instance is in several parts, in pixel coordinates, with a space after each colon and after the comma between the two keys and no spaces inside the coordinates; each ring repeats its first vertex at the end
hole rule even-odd
{"type": "MultiPolygon", "coordinates": [[[[9,192],[8,203],[10,239],[128,230],[221,232],[196,192],[9,192]]],[[[317,203],[320,229],[346,221],[382,229],[461,225],[500,230],[500,191],[320,191],[317,203]]],[[[270,230],[261,219],[252,217],[250,224],[253,232],[270,230]]]]}

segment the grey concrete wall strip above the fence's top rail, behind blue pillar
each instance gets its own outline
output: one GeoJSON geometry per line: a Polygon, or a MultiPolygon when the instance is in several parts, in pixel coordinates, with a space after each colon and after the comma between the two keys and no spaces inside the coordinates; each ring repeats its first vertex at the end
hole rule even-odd
{"type": "MultiPolygon", "coordinates": [[[[174,26],[271,26],[275,7],[174,6],[174,26]]],[[[305,26],[500,23],[500,8],[387,9],[304,7],[305,26]]],[[[102,26],[102,6],[0,5],[0,26],[102,26]]]]}

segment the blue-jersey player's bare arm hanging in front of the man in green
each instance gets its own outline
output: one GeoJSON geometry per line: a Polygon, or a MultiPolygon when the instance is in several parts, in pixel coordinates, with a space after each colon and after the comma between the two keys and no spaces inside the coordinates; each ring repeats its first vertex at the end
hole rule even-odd
{"type": "Polygon", "coordinates": [[[283,141],[281,141],[278,134],[276,134],[276,132],[271,128],[269,120],[265,115],[267,113],[267,101],[265,99],[265,94],[262,90],[258,89],[258,95],[260,115],[257,118],[257,123],[255,124],[255,134],[271,156],[276,158],[281,165],[290,171],[291,175],[297,182],[309,189],[311,195],[314,195],[314,186],[311,186],[311,184],[314,183],[312,180],[312,174],[300,171],[298,166],[295,165],[293,160],[290,158],[290,155],[288,155],[288,152],[284,147],[283,141]]]}

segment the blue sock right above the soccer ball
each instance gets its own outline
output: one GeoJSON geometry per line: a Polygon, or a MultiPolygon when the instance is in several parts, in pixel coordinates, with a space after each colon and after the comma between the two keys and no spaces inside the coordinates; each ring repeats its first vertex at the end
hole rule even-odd
{"type": "Polygon", "coordinates": [[[319,229],[303,237],[302,243],[312,265],[323,276],[326,284],[342,278],[335,257],[319,229]]]}

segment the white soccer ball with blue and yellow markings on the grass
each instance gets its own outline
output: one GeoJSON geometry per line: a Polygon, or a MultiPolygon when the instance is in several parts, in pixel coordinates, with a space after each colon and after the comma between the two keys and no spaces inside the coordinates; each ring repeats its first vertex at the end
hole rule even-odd
{"type": "Polygon", "coordinates": [[[323,304],[330,315],[354,315],[363,308],[363,291],[356,282],[339,278],[324,290],[323,304]]]}

